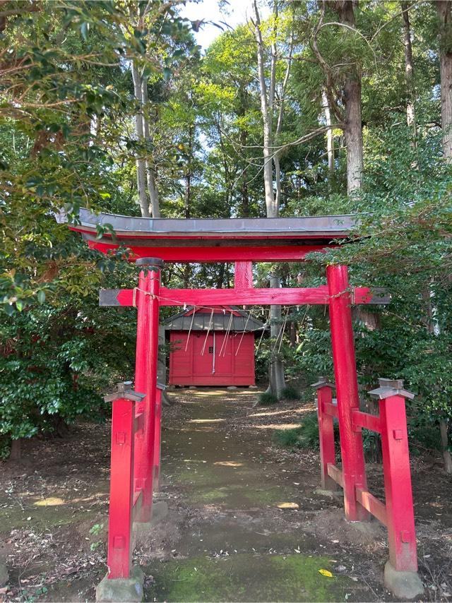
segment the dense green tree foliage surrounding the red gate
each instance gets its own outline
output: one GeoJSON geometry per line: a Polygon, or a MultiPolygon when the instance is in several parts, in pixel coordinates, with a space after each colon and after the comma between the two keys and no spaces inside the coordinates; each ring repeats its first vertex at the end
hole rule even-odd
{"type": "MultiPolygon", "coordinates": [[[[265,215],[252,28],[227,30],[202,53],[176,2],[151,3],[139,26],[137,11],[143,16],[147,4],[18,0],[0,9],[0,435],[7,438],[98,416],[100,394],[133,374],[133,311],[100,310],[96,301],[100,287],[134,282],[127,252],[101,258],[54,213],[76,219],[88,206],[140,215],[136,159],[145,155],[155,165],[162,216],[265,215]],[[147,78],[144,145],[134,132],[132,63],[147,78]]],[[[400,3],[358,3],[355,28],[338,25],[335,3],[321,16],[320,4],[280,1],[278,16],[263,21],[265,74],[273,47],[283,115],[275,141],[280,214],[356,212],[362,225],[353,246],[280,267],[281,282],[319,285],[326,263],[344,262],[353,284],[386,287],[389,306],[354,309],[363,399],[379,376],[404,378],[417,393],[413,433],[422,426],[434,433],[452,417],[452,172],[441,148],[438,18],[432,3],[410,8],[416,118],[408,126],[400,3]],[[328,75],[340,88],[351,64],[362,83],[364,178],[347,195],[335,111],[333,166],[324,132],[303,137],[325,124],[328,75]]],[[[335,100],[339,113],[343,100],[335,100]]],[[[268,284],[271,268],[256,266],[258,285],[268,284]]],[[[163,278],[175,287],[227,287],[232,266],[169,265],[163,278]]],[[[333,378],[325,309],[284,310],[281,326],[282,342],[261,342],[261,372],[278,356],[304,384],[333,378]]]]}

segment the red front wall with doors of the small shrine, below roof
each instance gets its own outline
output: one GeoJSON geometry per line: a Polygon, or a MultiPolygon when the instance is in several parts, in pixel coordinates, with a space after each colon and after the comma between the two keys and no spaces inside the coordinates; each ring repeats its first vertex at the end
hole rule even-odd
{"type": "Polygon", "coordinates": [[[170,385],[254,385],[254,333],[172,331],[170,341],[170,385]]]}

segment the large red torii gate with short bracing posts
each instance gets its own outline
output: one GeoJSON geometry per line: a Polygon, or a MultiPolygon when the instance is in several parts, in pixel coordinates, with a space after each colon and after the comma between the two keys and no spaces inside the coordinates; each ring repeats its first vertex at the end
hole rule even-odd
{"type": "Polygon", "coordinates": [[[133,521],[148,523],[152,518],[153,479],[160,472],[159,307],[206,303],[328,305],[337,406],[332,403],[333,385],[325,381],[316,383],[322,485],[330,489],[335,483],[343,486],[347,520],[368,520],[372,514],[387,525],[390,561],[385,567],[386,586],[403,597],[415,597],[423,592],[417,576],[405,419],[404,397],[410,394],[403,390],[401,382],[383,383],[380,390],[375,390],[375,395],[383,401],[380,417],[359,412],[351,306],[386,303],[388,298],[381,292],[374,296],[369,287],[350,287],[345,265],[328,266],[328,285],[320,287],[257,289],[253,286],[252,261],[304,261],[308,253],[337,244],[335,239],[350,239],[355,228],[354,217],[165,220],[93,215],[81,210],[80,219],[80,225],[70,228],[81,232],[92,249],[109,253],[124,246],[131,250],[131,259],[142,268],[135,289],[100,291],[102,306],[136,306],[138,326],[136,391],[131,390],[130,383],[125,383],[116,394],[106,398],[113,401],[108,573],[97,588],[97,599],[117,600],[118,589],[125,589],[128,600],[141,600],[143,594],[141,580],[131,567],[131,532],[133,521]],[[234,262],[234,287],[161,287],[160,270],[164,261],[234,262]],[[342,470],[335,465],[333,417],[338,417],[339,422],[342,470]],[[367,489],[362,427],[379,431],[382,436],[386,504],[367,489]]]}

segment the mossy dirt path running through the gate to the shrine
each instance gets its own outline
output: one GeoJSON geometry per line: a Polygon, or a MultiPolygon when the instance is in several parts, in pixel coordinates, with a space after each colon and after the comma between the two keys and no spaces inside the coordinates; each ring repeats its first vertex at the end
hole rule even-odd
{"type": "MultiPolygon", "coordinates": [[[[376,598],[352,559],[338,556],[335,539],[321,544],[312,531],[325,504],[335,516],[340,502],[313,495],[314,455],[305,455],[301,470],[292,455],[275,462],[268,449],[281,419],[287,426],[297,422],[299,405],[262,410],[252,407],[254,400],[247,391],[196,390],[182,399],[179,394],[182,404],[170,411],[164,430],[162,488],[172,508],[165,524],[179,522],[172,559],[163,550],[162,560],[147,566],[154,579],[148,600],[376,598]]],[[[359,532],[357,539],[362,537],[359,532]]]]}

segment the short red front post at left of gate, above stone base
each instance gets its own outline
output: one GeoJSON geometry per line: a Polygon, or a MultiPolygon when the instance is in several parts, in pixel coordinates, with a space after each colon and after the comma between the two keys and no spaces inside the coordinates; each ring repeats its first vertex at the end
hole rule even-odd
{"type": "Polygon", "coordinates": [[[108,520],[108,578],[129,578],[132,562],[133,422],[135,402],[113,402],[110,502],[108,520]]]}

